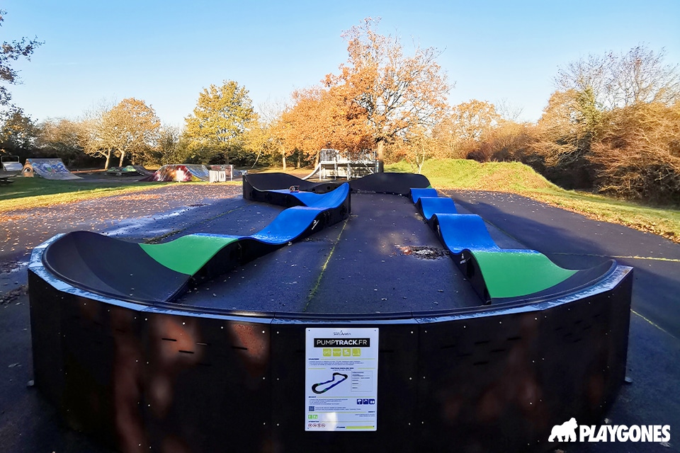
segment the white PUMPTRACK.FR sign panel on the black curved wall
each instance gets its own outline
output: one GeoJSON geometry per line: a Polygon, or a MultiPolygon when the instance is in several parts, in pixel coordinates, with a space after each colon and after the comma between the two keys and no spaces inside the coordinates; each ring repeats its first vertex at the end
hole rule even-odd
{"type": "Polygon", "coordinates": [[[307,328],[305,431],[378,429],[378,328],[307,328]]]}

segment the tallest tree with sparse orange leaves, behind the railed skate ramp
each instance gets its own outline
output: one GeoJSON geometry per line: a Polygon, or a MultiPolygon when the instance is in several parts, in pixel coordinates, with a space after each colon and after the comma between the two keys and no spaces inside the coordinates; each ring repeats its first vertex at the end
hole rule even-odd
{"type": "Polygon", "coordinates": [[[379,21],[366,18],[343,34],[347,62],[339,74],[328,74],[324,84],[346,99],[346,108],[365,116],[382,167],[385,144],[409,129],[427,130],[438,122],[451,86],[436,62],[441,52],[416,45],[413,55],[404,55],[398,37],[375,31],[379,21]]]}

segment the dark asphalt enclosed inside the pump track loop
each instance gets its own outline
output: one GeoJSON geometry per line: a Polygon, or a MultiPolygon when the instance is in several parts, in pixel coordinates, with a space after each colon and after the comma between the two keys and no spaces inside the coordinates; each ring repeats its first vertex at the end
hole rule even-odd
{"type": "MultiPolygon", "coordinates": [[[[228,231],[230,222],[223,217],[211,227],[228,231]]],[[[482,301],[407,197],[361,193],[352,195],[346,222],[206,282],[179,302],[246,312],[410,316],[482,301]]]]}

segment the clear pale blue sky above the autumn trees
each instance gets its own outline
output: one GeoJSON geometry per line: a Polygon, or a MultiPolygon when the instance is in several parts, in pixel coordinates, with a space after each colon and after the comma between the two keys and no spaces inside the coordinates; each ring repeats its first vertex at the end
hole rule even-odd
{"type": "Polygon", "coordinates": [[[288,101],[347,59],[341,33],[365,17],[378,31],[443,53],[449,103],[521,108],[538,120],[559,67],[589,54],[665,48],[680,63],[680,1],[4,0],[0,40],[45,41],[16,62],[13,103],[33,120],[76,119],[135,97],[182,126],[210,84],[234,80],[256,108],[288,101]]]}

